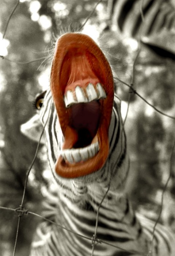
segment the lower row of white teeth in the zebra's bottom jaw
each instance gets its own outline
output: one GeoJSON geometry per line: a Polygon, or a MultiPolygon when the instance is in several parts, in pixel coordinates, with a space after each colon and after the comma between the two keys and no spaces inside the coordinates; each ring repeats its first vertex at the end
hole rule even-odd
{"type": "Polygon", "coordinates": [[[69,163],[78,163],[80,161],[86,161],[89,158],[94,157],[98,150],[99,143],[96,142],[84,148],[64,149],[60,152],[60,154],[69,163]]]}

